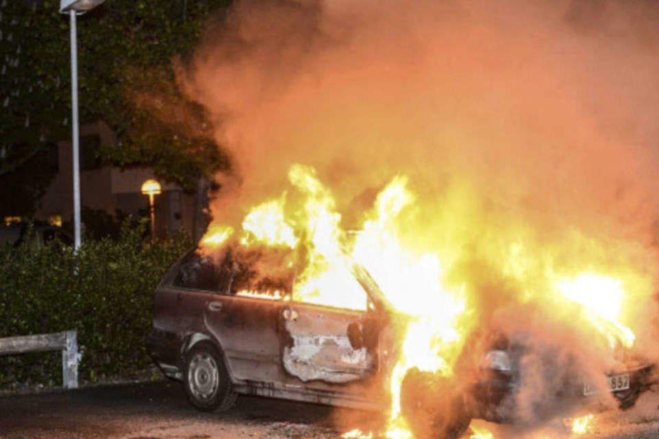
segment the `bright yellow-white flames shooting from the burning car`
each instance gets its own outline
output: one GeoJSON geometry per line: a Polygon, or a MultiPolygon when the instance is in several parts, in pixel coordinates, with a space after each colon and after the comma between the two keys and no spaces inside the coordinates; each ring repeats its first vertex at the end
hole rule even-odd
{"type": "MultiPolygon", "coordinates": [[[[367,309],[362,287],[354,276],[356,264],[365,268],[378,283],[382,293],[400,314],[405,316],[400,352],[391,368],[389,394],[390,420],[386,436],[411,438],[412,434],[401,416],[400,385],[410,368],[418,368],[451,376],[465,338],[476,319],[470,316],[477,303],[470,295],[470,278],[448,281],[446,276],[454,260],[436,251],[416,250],[402,239],[402,217],[415,206],[415,194],[409,189],[406,176],[395,176],[375,198],[372,209],[362,214],[357,230],[344,230],[336,200],[312,167],[294,165],[288,172],[290,185],[299,198],[289,201],[287,193],[248,211],[242,230],[214,224],[200,241],[205,251],[213,251],[238,235],[242,246],[288,248],[304,255],[304,263],[292,285],[291,295],[282,291],[243,291],[239,294],[274,300],[297,300],[347,309],[367,309]],[[448,259],[448,260],[447,260],[448,259]]],[[[621,279],[614,275],[594,274],[588,270],[562,274],[544,268],[545,254],[529,252],[522,237],[507,244],[493,258],[500,272],[520,282],[518,303],[542,302],[559,310],[577,307],[579,318],[575,326],[598,334],[607,346],[632,346],[634,332],[624,322],[623,306],[627,303],[625,285],[638,281],[638,275],[621,279]],[[542,279],[538,279],[538,273],[542,279]],[[531,274],[534,274],[531,276],[531,274]]],[[[440,250],[443,250],[441,252],[440,250]]],[[[458,250],[456,249],[456,253],[458,250]]],[[[641,281],[643,279],[641,276],[641,281]]],[[[645,285],[645,284],[643,284],[645,285]]],[[[637,285],[638,286],[638,285],[637,285]]],[[[487,430],[476,431],[472,437],[492,437],[487,430]]],[[[372,433],[351,431],[344,437],[371,437],[372,433]]]]}

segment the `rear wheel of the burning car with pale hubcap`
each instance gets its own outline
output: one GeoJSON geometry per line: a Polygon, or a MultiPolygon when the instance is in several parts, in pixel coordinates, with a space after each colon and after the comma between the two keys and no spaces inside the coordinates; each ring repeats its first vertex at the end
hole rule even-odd
{"type": "Polygon", "coordinates": [[[186,353],[183,385],[190,403],[205,412],[229,410],[238,396],[231,389],[224,357],[209,342],[195,344],[186,353]]]}

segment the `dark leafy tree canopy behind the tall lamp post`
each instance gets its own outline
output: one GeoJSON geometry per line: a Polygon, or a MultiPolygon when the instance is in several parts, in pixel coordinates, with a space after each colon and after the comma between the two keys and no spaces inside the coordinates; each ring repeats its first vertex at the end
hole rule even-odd
{"type": "MultiPolygon", "coordinates": [[[[150,165],[187,190],[228,167],[205,111],[178,90],[173,62],[191,54],[211,14],[228,3],[111,0],[78,17],[80,120],[102,119],[119,139],[102,148],[104,158],[150,165]]],[[[34,194],[49,178],[27,164],[71,130],[69,20],[58,7],[0,0],[0,184],[41,173],[34,194]]]]}

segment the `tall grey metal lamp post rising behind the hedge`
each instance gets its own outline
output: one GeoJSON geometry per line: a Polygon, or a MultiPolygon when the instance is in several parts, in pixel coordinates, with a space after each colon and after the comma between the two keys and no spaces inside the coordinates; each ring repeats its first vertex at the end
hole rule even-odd
{"type": "Polygon", "coordinates": [[[71,23],[71,145],[73,147],[73,245],[80,248],[80,133],[78,129],[78,41],[76,15],[92,10],[104,0],[60,0],[60,13],[71,23]]]}

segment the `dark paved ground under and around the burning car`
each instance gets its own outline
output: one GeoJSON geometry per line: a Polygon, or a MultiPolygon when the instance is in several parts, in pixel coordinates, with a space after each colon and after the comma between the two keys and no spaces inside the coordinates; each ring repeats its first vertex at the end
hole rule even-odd
{"type": "MultiPolygon", "coordinates": [[[[645,394],[632,411],[598,415],[591,433],[581,437],[659,438],[658,404],[658,393],[645,394]]],[[[246,396],[230,412],[201,413],[170,381],[0,397],[1,438],[336,438],[377,423],[372,412],[246,396]]],[[[486,427],[497,429],[497,439],[570,437],[559,423],[531,434],[486,427]]]]}

